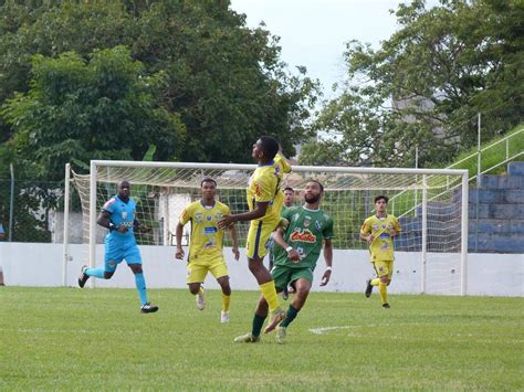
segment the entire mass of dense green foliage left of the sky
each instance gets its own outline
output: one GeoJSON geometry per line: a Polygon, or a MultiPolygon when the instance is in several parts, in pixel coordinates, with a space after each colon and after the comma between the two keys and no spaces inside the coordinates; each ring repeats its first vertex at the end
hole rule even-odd
{"type": "Polygon", "coordinates": [[[41,176],[148,144],[156,160],[251,162],[264,134],[293,155],[317,91],[229,1],[0,1],[0,142],[41,176]]]}

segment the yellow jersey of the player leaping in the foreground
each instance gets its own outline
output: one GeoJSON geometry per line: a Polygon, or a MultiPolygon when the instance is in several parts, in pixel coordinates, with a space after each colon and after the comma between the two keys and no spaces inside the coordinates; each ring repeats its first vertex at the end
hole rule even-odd
{"type": "Polygon", "coordinates": [[[249,210],[254,210],[258,202],[269,202],[265,215],[254,221],[280,221],[280,212],[284,205],[284,193],[280,186],[284,173],[290,171],[290,163],[280,153],[270,163],[261,165],[254,170],[248,186],[249,210]]]}

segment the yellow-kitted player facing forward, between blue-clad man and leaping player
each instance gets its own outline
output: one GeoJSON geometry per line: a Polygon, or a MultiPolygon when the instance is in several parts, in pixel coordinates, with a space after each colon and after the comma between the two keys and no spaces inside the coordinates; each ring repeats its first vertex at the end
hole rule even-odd
{"type": "MultiPolygon", "coordinates": [[[[191,222],[191,236],[189,240],[188,277],[189,292],[196,296],[197,307],[203,310],[206,301],[203,298],[202,284],[208,272],[210,272],[222,289],[222,310],[220,321],[229,322],[229,304],[231,299],[231,287],[226,261],[223,258],[223,230],[219,230],[217,222],[224,215],[230,214],[229,206],[214,200],[217,194],[217,182],[211,178],[205,178],[200,182],[201,199],[189,204],[180,215],[177,225],[177,253],[176,258],[184,258],[182,230],[191,222]]],[[[233,242],[234,258],[239,259],[239,246],[234,225],[229,226],[233,242]]]]}

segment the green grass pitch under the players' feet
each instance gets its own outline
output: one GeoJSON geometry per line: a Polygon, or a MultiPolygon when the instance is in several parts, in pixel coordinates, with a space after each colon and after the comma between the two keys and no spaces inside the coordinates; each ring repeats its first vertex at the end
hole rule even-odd
{"type": "Polygon", "coordinates": [[[313,293],[289,341],[250,330],[258,294],[196,309],[181,289],[0,287],[1,390],[522,390],[522,298],[313,293]],[[313,333],[315,328],[321,335],[313,333]]]}

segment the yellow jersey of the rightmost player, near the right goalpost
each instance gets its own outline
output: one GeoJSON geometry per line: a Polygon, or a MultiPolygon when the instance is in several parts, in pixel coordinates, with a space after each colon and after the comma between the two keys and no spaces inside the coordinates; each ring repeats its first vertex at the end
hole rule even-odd
{"type": "Polygon", "coordinates": [[[392,262],[395,259],[394,243],[389,235],[391,229],[397,233],[400,233],[401,231],[400,223],[398,223],[397,218],[394,215],[386,215],[385,218],[373,215],[364,221],[364,224],[360,227],[360,234],[373,234],[375,236],[375,240],[373,240],[369,245],[371,263],[392,262]]]}

